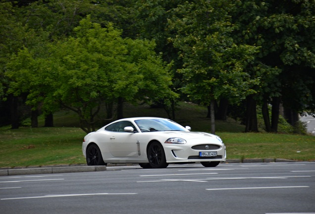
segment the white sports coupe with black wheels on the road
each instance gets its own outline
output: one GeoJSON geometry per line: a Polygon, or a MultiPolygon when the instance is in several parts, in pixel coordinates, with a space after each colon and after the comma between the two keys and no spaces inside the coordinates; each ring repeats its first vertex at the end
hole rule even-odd
{"type": "Polygon", "coordinates": [[[165,118],[125,118],[87,134],[82,151],[88,165],[139,163],[143,168],[164,168],[169,163],[201,162],[214,167],[226,159],[218,136],[190,130],[165,118]]]}

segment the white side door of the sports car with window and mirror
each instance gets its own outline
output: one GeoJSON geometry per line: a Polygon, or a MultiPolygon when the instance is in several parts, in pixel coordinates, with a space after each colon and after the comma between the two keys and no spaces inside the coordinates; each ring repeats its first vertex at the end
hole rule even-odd
{"type": "Polygon", "coordinates": [[[111,129],[108,149],[113,157],[138,157],[137,133],[125,132],[126,126],[135,129],[130,121],[117,122],[111,129]]]}

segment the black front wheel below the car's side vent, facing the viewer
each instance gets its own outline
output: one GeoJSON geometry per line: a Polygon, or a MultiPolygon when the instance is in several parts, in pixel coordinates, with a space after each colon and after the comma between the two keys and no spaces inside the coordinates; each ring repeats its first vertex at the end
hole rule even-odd
{"type": "Polygon", "coordinates": [[[162,145],[158,142],[153,142],[148,149],[148,160],[152,168],[166,168],[165,153],[162,145]]]}

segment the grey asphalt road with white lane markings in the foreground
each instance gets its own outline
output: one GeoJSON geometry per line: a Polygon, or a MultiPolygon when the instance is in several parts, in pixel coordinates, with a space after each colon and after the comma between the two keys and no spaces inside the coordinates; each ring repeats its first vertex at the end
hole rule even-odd
{"type": "Polygon", "coordinates": [[[1,214],[315,214],[315,162],[0,177],[1,214]]]}

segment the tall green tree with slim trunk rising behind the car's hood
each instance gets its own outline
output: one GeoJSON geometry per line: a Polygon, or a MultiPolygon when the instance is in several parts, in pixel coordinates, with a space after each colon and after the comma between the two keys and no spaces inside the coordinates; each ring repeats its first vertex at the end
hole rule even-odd
{"type": "MultiPolygon", "coordinates": [[[[182,88],[191,100],[209,106],[214,101],[227,98],[240,102],[258,84],[258,78],[246,73],[257,49],[248,45],[237,46],[231,34],[228,0],[186,1],[174,9],[171,28],[177,32],[172,38],[174,46],[181,50],[183,74],[186,83],[182,88]]],[[[211,116],[211,132],[214,133],[214,112],[211,116]]]]}

